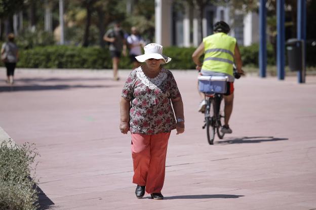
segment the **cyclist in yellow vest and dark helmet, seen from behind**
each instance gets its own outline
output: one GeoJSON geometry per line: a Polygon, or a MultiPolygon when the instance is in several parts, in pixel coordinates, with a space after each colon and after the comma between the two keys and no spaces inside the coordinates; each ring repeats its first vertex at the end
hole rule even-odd
{"type": "MultiPolygon", "coordinates": [[[[242,70],[241,54],[236,42],[236,39],[227,35],[230,27],[224,21],[219,21],[214,24],[214,34],[203,38],[202,43],[194,53],[192,54],[193,62],[196,64],[196,69],[201,72],[202,75],[209,76],[228,76],[227,93],[224,94],[225,101],[225,124],[221,128],[221,132],[225,134],[231,134],[232,131],[229,128],[228,121],[232,112],[233,103],[233,63],[236,64],[236,70],[239,74],[244,74],[242,70]],[[200,57],[205,54],[203,65],[200,61],[200,57]]],[[[203,97],[199,106],[199,111],[205,110],[205,96],[200,92],[200,96],[203,97]]]]}

